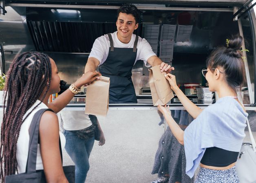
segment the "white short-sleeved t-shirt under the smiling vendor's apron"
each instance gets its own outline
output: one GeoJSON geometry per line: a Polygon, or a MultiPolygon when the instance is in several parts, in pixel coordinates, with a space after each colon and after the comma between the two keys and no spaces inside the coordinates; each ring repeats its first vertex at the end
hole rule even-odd
{"type": "MultiPolygon", "coordinates": [[[[136,38],[135,34],[132,34],[132,38],[129,43],[124,44],[117,38],[117,31],[114,33],[111,33],[113,44],[115,48],[133,48],[134,41],[136,38]]],[[[108,52],[110,48],[110,41],[108,35],[103,35],[101,37],[98,37],[94,43],[93,48],[90,52],[89,58],[94,57],[99,60],[99,65],[102,65],[107,57],[108,52]]],[[[153,52],[150,44],[148,41],[144,38],[139,37],[138,44],[137,44],[137,57],[134,61],[134,64],[137,60],[143,60],[146,67],[150,67],[150,65],[147,63],[147,60],[149,57],[156,56],[156,54],[153,52]]]]}

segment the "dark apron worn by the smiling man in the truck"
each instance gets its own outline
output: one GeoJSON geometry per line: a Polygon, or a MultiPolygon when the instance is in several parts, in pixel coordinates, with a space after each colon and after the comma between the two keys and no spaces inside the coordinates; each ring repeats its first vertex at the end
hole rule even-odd
{"type": "Polygon", "coordinates": [[[133,48],[114,48],[111,34],[108,34],[110,48],[106,61],[99,67],[103,76],[110,78],[109,102],[137,103],[132,83],[132,67],[137,57],[138,36],[133,48]]]}

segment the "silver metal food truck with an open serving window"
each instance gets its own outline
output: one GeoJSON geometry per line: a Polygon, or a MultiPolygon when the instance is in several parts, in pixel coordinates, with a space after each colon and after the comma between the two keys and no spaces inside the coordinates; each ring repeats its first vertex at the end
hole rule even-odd
{"type": "MultiPolygon", "coordinates": [[[[95,39],[116,31],[117,9],[127,2],[141,13],[134,33],[175,68],[172,74],[180,88],[201,109],[218,99],[213,93],[207,103],[197,95],[196,88],[207,87],[201,74],[207,57],[214,48],[225,46],[231,35],[244,37],[247,83],[238,96],[256,131],[256,2],[252,0],[0,0],[1,73],[7,73],[21,52],[44,52],[56,62],[68,87],[84,73],[95,39]]],[[[133,66],[132,81],[138,102],[110,103],[106,117],[97,116],[106,144],[95,144],[86,182],[146,183],[157,177],[151,171],[168,124],[152,104],[149,71],[143,61],[133,66]]],[[[84,113],[85,98],[86,87],[61,113],[84,113]]],[[[172,111],[185,110],[176,96],[168,105],[172,111]]],[[[70,163],[64,159],[64,164],[70,163]]]]}

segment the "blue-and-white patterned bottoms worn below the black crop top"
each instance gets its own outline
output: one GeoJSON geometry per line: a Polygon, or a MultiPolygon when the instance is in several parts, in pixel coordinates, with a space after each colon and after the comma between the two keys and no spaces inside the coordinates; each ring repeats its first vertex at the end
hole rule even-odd
{"type": "Polygon", "coordinates": [[[195,183],[239,183],[236,167],[227,170],[212,170],[200,167],[195,183]]]}

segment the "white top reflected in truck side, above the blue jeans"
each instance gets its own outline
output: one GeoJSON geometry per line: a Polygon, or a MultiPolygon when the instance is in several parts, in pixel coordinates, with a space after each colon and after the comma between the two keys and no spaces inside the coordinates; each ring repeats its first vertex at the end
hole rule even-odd
{"type": "Polygon", "coordinates": [[[61,111],[60,114],[65,130],[82,130],[93,124],[84,111],[61,111]]]}

